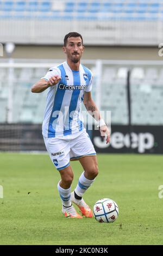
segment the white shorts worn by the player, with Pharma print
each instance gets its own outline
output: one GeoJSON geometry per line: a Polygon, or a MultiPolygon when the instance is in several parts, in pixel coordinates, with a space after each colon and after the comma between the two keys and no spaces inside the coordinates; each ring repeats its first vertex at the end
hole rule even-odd
{"type": "Polygon", "coordinates": [[[43,136],[49,156],[58,171],[70,165],[70,160],[84,156],[96,156],[90,136],[86,130],[78,133],[76,138],[46,138],[43,136]]]}

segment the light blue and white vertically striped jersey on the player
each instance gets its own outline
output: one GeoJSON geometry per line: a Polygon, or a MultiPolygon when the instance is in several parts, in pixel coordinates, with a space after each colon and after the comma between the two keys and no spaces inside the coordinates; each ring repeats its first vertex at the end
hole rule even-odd
{"type": "Polygon", "coordinates": [[[57,85],[48,88],[42,134],[46,138],[71,135],[85,129],[80,105],[84,92],[91,91],[91,70],[80,64],[79,71],[71,70],[67,62],[49,69],[42,79],[59,75],[57,85]]]}

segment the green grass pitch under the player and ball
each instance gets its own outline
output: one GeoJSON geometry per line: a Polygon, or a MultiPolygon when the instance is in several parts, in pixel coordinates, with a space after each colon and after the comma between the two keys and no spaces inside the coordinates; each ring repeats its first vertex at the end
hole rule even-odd
{"type": "MultiPolygon", "coordinates": [[[[1,245],[162,245],[162,156],[98,154],[99,175],[84,195],[93,207],[101,198],[119,206],[114,223],[68,219],[61,214],[60,175],[46,154],[0,154],[1,245]]],[[[82,172],[79,162],[72,189],[82,172]]]]}

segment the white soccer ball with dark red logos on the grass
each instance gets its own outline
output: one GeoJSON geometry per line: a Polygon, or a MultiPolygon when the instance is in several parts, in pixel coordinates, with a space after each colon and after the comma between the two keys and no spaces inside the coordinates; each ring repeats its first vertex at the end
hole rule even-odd
{"type": "Polygon", "coordinates": [[[93,215],[98,222],[114,222],[118,217],[118,206],[115,201],[103,198],[93,206],[93,215]]]}

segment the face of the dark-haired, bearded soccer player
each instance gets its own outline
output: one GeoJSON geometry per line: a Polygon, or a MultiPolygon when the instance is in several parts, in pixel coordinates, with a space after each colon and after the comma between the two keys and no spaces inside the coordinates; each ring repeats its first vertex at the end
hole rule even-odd
{"type": "Polygon", "coordinates": [[[84,46],[82,45],[82,39],[80,37],[70,37],[67,39],[66,47],[63,47],[67,58],[73,63],[80,61],[82,53],[84,51],[84,46]]]}

